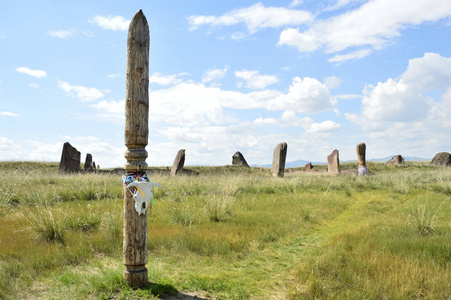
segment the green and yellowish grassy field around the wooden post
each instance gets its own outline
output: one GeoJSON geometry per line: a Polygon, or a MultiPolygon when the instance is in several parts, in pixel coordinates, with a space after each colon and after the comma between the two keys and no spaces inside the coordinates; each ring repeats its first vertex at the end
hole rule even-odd
{"type": "Polygon", "coordinates": [[[150,283],[133,290],[119,175],[0,163],[0,299],[451,299],[451,168],[368,168],[152,176],[150,283]]]}

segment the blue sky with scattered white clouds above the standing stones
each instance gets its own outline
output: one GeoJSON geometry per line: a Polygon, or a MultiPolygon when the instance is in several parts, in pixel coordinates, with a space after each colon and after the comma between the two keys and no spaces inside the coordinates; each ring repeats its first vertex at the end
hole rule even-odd
{"type": "Polygon", "coordinates": [[[125,163],[128,24],[150,34],[147,162],[451,149],[451,1],[0,1],[0,160],[125,163]]]}

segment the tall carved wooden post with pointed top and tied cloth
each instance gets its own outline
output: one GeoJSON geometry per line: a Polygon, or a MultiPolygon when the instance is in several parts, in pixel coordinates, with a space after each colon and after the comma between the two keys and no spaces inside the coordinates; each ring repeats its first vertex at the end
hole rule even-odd
{"type": "MultiPolygon", "coordinates": [[[[130,22],[127,38],[127,77],[125,90],[126,176],[144,176],[147,171],[149,135],[149,26],[140,10],[130,22]]],[[[132,287],[143,287],[147,275],[147,210],[138,214],[130,191],[124,194],[124,279],[132,287]]]]}

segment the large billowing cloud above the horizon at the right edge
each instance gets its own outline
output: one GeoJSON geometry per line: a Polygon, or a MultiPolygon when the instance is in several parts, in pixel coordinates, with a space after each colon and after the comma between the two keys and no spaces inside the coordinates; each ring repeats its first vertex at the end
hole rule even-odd
{"type": "Polygon", "coordinates": [[[374,157],[402,155],[432,158],[449,147],[451,128],[450,59],[435,53],[409,60],[399,79],[389,78],[363,91],[362,113],[346,113],[361,127],[374,157]],[[443,91],[440,99],[427,91],[443,91]]]}

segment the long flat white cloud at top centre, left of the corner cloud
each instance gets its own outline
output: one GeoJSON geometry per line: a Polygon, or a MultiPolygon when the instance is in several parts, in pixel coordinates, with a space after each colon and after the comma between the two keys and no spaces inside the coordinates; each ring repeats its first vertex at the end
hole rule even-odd
{"type": "Polygon", "coordinates": [[[256,3],[250,7],[233,10],[220,17],[190,16],[190,30],[196,30],[202,25],[232,26],[244,23],[250,33],[262,28],[278,28],[287,25],[300,25],[310,22],[313,16],[308,11],[290,10],[284,7],[265,7],[256,3]]]}

